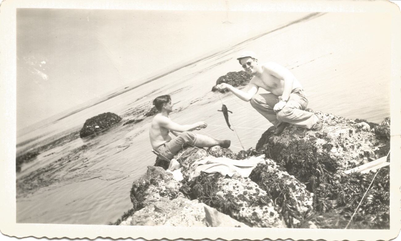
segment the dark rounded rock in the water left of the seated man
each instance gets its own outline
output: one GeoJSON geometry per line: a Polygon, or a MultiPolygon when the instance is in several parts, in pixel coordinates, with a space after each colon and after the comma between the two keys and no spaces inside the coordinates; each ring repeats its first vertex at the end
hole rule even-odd
{"type": "Polygon", "coordinates": [[[111,112],[96,115],[95,117],[85,121],[83,128],[79,132],[79,137],[84,138],[95,134],[96,132],[109,128],[113,124],[120,122],[121,119],[121,117],[111,112]]]}

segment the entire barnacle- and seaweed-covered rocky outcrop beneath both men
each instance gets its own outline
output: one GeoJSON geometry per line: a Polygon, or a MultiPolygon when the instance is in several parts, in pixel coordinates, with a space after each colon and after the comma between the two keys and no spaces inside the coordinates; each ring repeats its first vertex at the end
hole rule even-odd
{"type": "Polygon", "coordinates": [[[375,180],[373,173],[344,173],[381,157],[389,148],[389,138],[375,133],[388,132],[388,126],[322,112],[316,115],[324,124],[322,130],[290,125],[276,136],[272,127],[256,149],[238,154],[219,146],[186,148],[174,156],[180,162],[182,181],[165,170],[168,162],[156,161],[163,168],[149,166],[134,182],[130,196],[135,212],[125,214],[128,219],[121,224],[344,228],[361,203],[363,210],[354,216],[358,225],[350,228],[388,228],[389,168],[380,169],[375,180]],[[240,160],[260,154],[265,159],[249,177],[201,172],[188,180],[197,160],[211,156],[240,160]],[[370,182],[372,187],[362,200],[370,182]]]}

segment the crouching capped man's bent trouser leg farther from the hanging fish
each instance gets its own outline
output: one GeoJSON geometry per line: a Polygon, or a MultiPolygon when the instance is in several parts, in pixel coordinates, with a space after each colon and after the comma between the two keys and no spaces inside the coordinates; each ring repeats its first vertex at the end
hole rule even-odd
{"type": "Polygon", "coordinates": [[[313,129],[319,118],[311,112],[305,111],[308,99],[303,90],[290,94],[290,99],[282,110],[277,112],[277,119],[306,129],[313,129]]]}

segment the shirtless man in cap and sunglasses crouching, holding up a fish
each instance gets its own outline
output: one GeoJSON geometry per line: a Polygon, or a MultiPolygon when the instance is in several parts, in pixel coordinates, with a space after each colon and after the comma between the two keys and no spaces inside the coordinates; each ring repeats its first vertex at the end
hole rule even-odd
{"type": "Polygon", "coordinates": [[[218,90],[228,89],[243,101],[250,101],[252,107],[276,127],[274,134],[281,133],[288,124],[314,131],[322,129],[319,118],[305,111],[308,99],[302,85],[288,69],[273,62],[259,64],[252,51],[242,53],[237,60],[245,72],[253,76],[247,91],[227,83],[217,85],[218,90]],[[259,87],[270,93],[256,94],[259,87]]]}

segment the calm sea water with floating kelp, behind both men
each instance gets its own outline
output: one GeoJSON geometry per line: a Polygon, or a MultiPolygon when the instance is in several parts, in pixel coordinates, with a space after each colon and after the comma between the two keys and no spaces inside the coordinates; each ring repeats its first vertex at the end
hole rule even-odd
{"type": "MultiPolygon", "coordinates": [[[[390,30],[375,24],[369,15],[354,16],[323,14],[290,25],[19,136],[18,143],[42,136],[29,144],[32,145],[77,131],[86,119],[103,112],[123,117],[121,124],[104,134],[57,146],[22,166],[17,179],[60,158],[71,159],[52,174],[56,179],[53,184],[30,193],[21,194],[17,190],[17,222],[107,224],[130,209],[132,182],[154,164],[155,156],[150,152],[148,140],[151,117],[134,125],[122,124],[128,119],[141,118],[132,113],[139,107],[150,109],[158,95],[172,96],[176,111],[170,117],[174,121],[180,124],[206,121],[208,128],[197,132],[231,139],[234,152],[241,150],[241,143],[246,149],[255,147],[271,124],[249,103],[231,93],[210,91],[218,77],[241,70],[235,56],[244,49],[259,53],[261,62],[275,61],[291,69],[308,94],[308,107],[380,123],[390,115],[391,52],[390,44],[383,45],[390,30]],[[334,24],[339,19],[346,24],[334,24]],[[233,111],[231,124],[236,127],[241,143],[217,111],[222,103],[233,111]],[[83,145],[87,148],[76,150],[83,145]]],[[[26,150],[29,145],[19,146],[17,151],[26,150]]]]}

